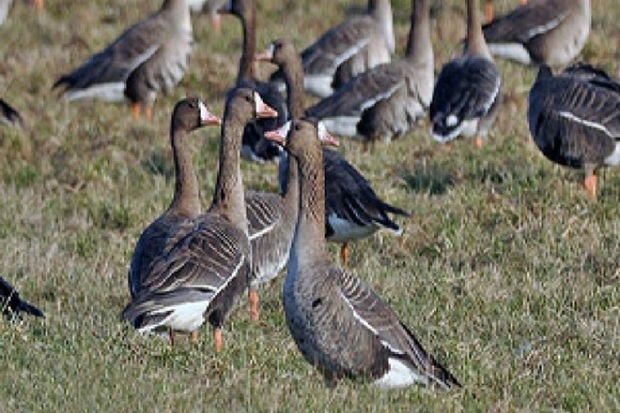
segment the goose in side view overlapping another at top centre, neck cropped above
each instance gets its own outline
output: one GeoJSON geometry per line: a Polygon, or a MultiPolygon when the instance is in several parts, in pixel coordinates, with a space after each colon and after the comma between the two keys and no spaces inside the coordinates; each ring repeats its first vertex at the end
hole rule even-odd
{"type": "Polygon", "coordinates": [[[332,133],[390,140],[408,132],[433,96],[433,48],[428,1],[412,1],[404,59],[376,66],[351,79],[307,110],[332,133]]]}

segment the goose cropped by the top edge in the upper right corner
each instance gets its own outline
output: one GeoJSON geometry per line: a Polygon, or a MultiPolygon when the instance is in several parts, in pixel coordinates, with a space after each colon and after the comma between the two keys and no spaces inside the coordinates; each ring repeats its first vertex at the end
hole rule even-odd
{"type": "Polygon", "coordinates": [[[523,64],[563,66],[590,33],[590,0],[531,0],[484,25],[491,54],[523,64]]]}

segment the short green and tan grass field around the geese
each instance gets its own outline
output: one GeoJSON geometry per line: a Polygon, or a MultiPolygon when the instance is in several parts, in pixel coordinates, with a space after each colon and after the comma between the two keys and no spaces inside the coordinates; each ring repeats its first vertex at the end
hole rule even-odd
{"type": "MultiPolygon", "coordinates": [[[[172,196],[171,109],[199,95],[222,114],[238,21],[224,17],[217,36],[206,16],[194,16],[189,71],[148,123],[132,121],[123,105],[67,104],[50,87],[160,0],[50,0],[41,14],[15,3],[0,27],[0,96],[30,128],[0,128],[0,272],[47,318],[0,321],[0,411],[620,410],[620,172],[602,174],[593,202],[581,173],[542,157],[525,116],[534,69],[499,62],[505,99],[480,151],[468,141],[435,144],[427,122],[371,152],[343,140],[377,192],[412,214],[400,221],[400,238],[355,244],[352,267],[464,387],[384,392],[344,382],[328,390],[289,337],[282,278],[261,291],[258,324],[246,302],[234,311],[221,354],[207,328],[198,346],[170,348],[120,321],[136,238],[172,196]]],[[[459,50],[464,1],[435,3],[438,71],[459,50]]],[[[496,1],[500,12],[516,3],[496,1]]],[[[617,74],[620,5],[593,3],[582,56],[617,74]]],[[[410,4],[393,5],[402,53],[410,4]]],[[[280,36],[306,45],[362,6],[261,0],[259,48],[280,36]]],[[[194,134],[205,203],[218,133],[194,134]]],[[[243,171],[248,188],[276,190],[275,165],[243,171]]]]}

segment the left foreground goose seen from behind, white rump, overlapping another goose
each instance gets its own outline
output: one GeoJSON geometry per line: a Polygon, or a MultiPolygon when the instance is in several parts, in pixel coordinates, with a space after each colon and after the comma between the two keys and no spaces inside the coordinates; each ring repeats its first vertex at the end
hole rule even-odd
{"type": "Polygon", "coordinates": [[[211,207],[173,228],[153,261],[142,289],[123,311],[140,333],[190,333],[207,320],[215,349],[223,347],[222,326],[248,287],[251,249],[241,176],[244,125],[255,116],[277,116],[260,95],[239,88],[229,97],[220,138],[220,166],[211,207]]]}

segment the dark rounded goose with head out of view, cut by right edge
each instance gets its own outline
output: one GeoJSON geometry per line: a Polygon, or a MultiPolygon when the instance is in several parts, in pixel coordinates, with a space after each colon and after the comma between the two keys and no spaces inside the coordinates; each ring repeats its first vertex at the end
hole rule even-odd
{"type": "Polygon", "coordinates": [[[554,76],[541,66],[529,95],[527,118],[536,145],[549,160],[585,171],[596,198],[596,172],[620,164],[620,83],[578,64],[554,76]]]}

